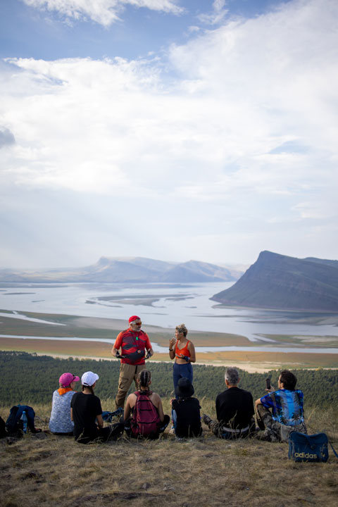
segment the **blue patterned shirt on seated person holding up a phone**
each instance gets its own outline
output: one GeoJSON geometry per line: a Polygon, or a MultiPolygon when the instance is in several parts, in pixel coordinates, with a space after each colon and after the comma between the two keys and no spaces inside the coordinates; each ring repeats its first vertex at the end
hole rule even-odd
{"type": "Polygon", "coordinates": [[[265,394],[261,403],[273,409],[273,419],[280,424],[294,426],[304,422],[303,392],[299,389],[278,389],[265,394]]]}

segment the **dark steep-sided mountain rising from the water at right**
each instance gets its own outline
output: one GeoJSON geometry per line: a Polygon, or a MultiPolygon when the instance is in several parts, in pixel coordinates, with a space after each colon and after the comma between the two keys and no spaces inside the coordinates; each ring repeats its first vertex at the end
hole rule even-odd
{"type": "Polygon", "coordinates": [[[230,306],[338,313],[338,261],[263,251],[230,289],[211,299],[230,306]]]}

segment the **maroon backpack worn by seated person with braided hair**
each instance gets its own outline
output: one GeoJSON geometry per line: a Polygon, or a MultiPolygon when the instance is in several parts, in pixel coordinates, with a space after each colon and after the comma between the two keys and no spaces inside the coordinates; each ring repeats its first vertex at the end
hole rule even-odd
{"type": "Polygon", "coordinates": [[[134,392],[137,396],[134,405],[134,412],[131,421],[132,434],[135,437],[149,437],[158,431],[161,425],[161,419],[158,415],[156,407],[151,403],[149,396],[152,391],[147,392],[134,392]]]}

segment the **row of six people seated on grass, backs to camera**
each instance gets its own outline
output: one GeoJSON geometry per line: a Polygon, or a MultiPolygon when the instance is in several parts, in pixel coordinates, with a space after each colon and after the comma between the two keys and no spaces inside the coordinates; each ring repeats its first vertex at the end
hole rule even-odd
{"type": "MultiPolygon", "coordinates": [[[[99,375],[82,375],[82,392],[75,392],[79,377],[63,373],[60,387],[53,394],[49,429],[58,435],[74,435],[77,442],[87,444],[99,440],[116,440],[123,431],[130,437],[157,439],[170,422],[163,412],[161,397],[149,389],[151,373],[142,370],[137,383],[139,390],[130,394],[120,423],[104,427],[100,399],[94,389],[99,375]]],[[[306,433],[303,415],[303,393],[296,387],[296,377],[284,370],[278,377],[278,389],[265,389],[268,394],[256,400],[258,427],[253,419],[253,398],[250,392],[238,387],[236,368],[225,371],[227,389],[215,401],[217,420],[203,414],[204,423],[215,436],[222,439],[256,437],[269,442],[287,442],[292,431],[306,433]],[[271,411],[269,410],[271,409],[271,411]]],[[[171,400],[173,431],[177,438],[199,437],[202,434],[199,400],[192,397],[194,387],[187,378],[177,384],[177,398],[171,400]]],[[[118,409],[114,415],[120,415],[118,409]]]]}

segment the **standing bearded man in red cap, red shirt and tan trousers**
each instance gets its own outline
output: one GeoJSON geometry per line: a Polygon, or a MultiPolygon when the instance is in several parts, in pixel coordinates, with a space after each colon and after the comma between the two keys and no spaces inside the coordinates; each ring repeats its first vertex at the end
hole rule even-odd
{"type": "Polygon", "coordinates": [[[132,380],[136,385],[137,375],[146,368],[144,359],[154,354],[148,334],[141,331],[141,319],[137,315],[132,315],[129,319],[129,326],[127,330],[118,334],[113,349],[111,349],[113,356],[121,359],[118,394],[115,398],[116,408],[123,408],[125,396],[132,380]]]}

